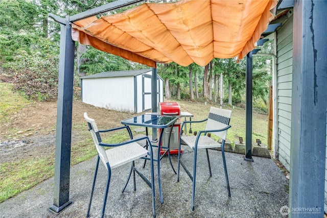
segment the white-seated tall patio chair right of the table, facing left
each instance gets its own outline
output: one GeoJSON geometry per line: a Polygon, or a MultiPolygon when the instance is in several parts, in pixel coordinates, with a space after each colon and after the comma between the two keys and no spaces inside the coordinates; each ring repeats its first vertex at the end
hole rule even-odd
{"type": "Polygon", "coordinates": [[[224,153],[224,145],[225,139],[227,135],[227,130],[231,127],[229,126],[229,120],[231,116],[230,110],[220,109],[211,107],[209,111],[209,116],[206,119],[199,120],[199,121],[184,121],[181,130],[183,129],[183,125],[186,123],[202,123],[206,121],[205,130],[198,131],[196,136],[182,136],[182,132],[180,131],[180,140],[179,140],[179,152],[178,152],[178,169],[177,169],[177,182],[179,182],[179,170],[180,165],[184,168],[185,172],[189,175],[190,179],[193,181],[193,189],[192,189],[192,205],[191,208],[194,210],[194,197],[195,197],[195,184],[196,184],[196,165],[197,165],[197,152],[198,149],[205,149],[206,151],[206,158],[209,167],[209,176],[211,177],[211,166],[209,161],[209,154],[208,149],[211,148],[221,148],[222,158],[223,158],[223,165],[225,170],[225,178],[227,184],[227,193],[230,197],[230,189],[229,189],[229,182],[228,182],[228,175],[227,175],[227,168],[226,168],[226,160],[225,160],[225,153],[224,153]],[[201,135],[203,133],[203,135],[201,135]],[[207,133],[214,134],[222,139],[222,142],[219,143],[213,137],[209,137],[207,133]],[[194,162],[193,162],[193,176],[186,168],[185,164],[181,160],[181,141],[184,141],[192,150],[194,150],[194,162]]]}

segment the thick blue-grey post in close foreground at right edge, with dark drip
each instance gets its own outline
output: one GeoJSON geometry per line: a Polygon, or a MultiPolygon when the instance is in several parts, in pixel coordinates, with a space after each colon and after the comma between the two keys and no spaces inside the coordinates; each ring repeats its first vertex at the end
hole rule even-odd
{"type": "Polygon", "coordinates": [[[289,217],[323,217],[327,109],[324,1],[294,1],[289,217]]]}

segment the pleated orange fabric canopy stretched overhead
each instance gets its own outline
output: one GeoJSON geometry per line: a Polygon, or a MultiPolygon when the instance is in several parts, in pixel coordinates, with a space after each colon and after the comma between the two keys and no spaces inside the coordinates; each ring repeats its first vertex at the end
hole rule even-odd
{"type": "Polygon", "coordinates": [[[73,23],[73,40],[151,67],[176,62],[205,66],[242,59],[273,18],[276,0],[144,3],[119,14],[73,23]]]}

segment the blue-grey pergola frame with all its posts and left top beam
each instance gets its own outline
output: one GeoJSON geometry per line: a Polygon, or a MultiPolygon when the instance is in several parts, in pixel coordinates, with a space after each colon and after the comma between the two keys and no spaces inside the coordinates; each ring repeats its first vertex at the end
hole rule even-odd
{"type": "MultiPolygon", "coordinates": [[[[72,40],[71,22],[131,5],[138,1],[116,1],[80,14],[61,18],[49,14],[60,23],[59,86],[56,129],[56,163],[54,203],[50,210],[59,213],[72,204],[69,200],[71,160],[73,76],[75,42],[72,40]]],[[[293,208],[324,207],[324,175],[326,147],[327,45],[324,15],[327,4],[323,1],[294,1],[293,82],[292,82],[292,132],[290,164],[290,210],[293,208]],[[312,73],[313,72],[313,73],[312,73]]],[[[252,160],[252,53],[247,55],[247,104],[246,104],[246,159],[252,160]],[[250,84],[251,83],[251,84],[250,84]],[[248,139],[249,137],[249,139],[248,139]],[[249,145],[248,145],[249,143],[249,145]]],[[[156,105],[156,73],[152,70],[152,110],[156,105]],[[155,100],[155,101],[154,101],[155,100]]],[[[298,217],[303,214],[290,213],[298,217]]]]}

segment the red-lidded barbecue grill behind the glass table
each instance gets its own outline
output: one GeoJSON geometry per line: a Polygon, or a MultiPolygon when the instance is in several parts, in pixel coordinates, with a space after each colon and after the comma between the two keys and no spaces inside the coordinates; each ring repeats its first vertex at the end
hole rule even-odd
{"type": "MultiPolygon", "coordinates": [[[[159,114],[160,115],[172,115],[179,116],[180,115],[180,107],[177,102],[160,102],[159,103],[159,114]]],[[[179,146],[179,132],[180,132],[180,119],[173,126],[172,134],[170,136],[170,154],[178,154],[178,146],[179,146]]],[[[159,129],[159,135],[160,135],[159,129]]],[[[164,135],[162,136],[161,145],[164,147],[168,147],[168,139],[170,128],[164,129],[164,135]]],[[[181,151],[182,152],[182,151],[181,151]]],[[[165,149],[161,149],[161,154],[165,153],[165,149]]]]}

